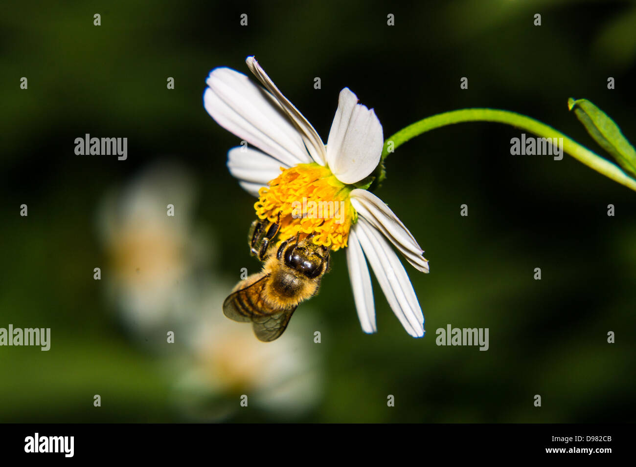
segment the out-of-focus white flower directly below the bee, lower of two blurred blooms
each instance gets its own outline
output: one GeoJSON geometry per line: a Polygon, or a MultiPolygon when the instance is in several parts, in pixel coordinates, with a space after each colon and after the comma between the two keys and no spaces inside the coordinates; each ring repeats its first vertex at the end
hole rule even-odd
{"type": "Polygon", "coordinates": [[[218,421],[240,409],[240,396],[248,407],[270,415],[293,417],[313,407],[321,396],[320,358],[313,334],[301,337],[307,318],[299,317],[286,331],[286,339],[261,342],[251,329],[230,321],[221,305],[230,283],[213,287],[202,309],[204,318],[191,330],[188,344],[193,359],[177,383],[178,394],[191,417],[218,421]]]}

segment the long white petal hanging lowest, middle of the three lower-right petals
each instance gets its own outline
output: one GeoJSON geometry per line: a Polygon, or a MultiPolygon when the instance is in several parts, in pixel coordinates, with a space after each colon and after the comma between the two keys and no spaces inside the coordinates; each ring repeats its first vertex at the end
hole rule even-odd
{"type": "Polygon", "coordinates": [[[358,217],[356,234],[389,306],[413,337],[424,335],[424,316],[413,285],[391,245],[371,224],[358,217]]]}

